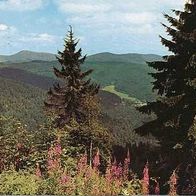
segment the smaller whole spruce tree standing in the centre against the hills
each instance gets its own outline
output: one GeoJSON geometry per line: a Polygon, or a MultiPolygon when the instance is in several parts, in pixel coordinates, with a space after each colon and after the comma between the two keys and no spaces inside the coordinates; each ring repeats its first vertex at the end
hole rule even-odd
{"type": "Polygon", "coordinates": [[[60,84],[54,84],[48,92],[48,99],[45,101],[47,109],[53,111],[57,118],[57,127],[69,124],[75,119],[78,123],[85,122],[88,117],[85,108],[85,99],[98,93],[99,86],[91,83],[86,77],[93,70],[82,72],[81,65],[86,56],[82,57],[81,48],[77,50],[78,41],[73,37],[72,27],[65,38],[64,51],[58,51],[57,59],[61,70],[54,67],[54,73],[61,80],[60,84]]]}

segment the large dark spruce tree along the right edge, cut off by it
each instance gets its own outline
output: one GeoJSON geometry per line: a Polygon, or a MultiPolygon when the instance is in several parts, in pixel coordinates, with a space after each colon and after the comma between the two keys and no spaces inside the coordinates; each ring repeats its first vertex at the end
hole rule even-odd
{"type": "Polygon", "coordinates": [[[157,70],[150,75],[154,78],[153,90],[159,96],[139,108],[143,113],[156,114],[157,118],[138,128],[137,132],[152,133],[160,140],[159,153],[167,165],[163,181],[168,180],[177,167],[178,191],[182,193],[188,184],[192,186],[190,179],[185,177],[187,167],[193,169],[196,163],[194,137],[190,136],[196,115],[196,0],[185,3],[183,11],[173,12],[175,18],[165,14],[170,25],[163,24],[171,39],[161,37],[162,44],[173,54],[164,56],[163,61],[148,63],[157,70]]]}

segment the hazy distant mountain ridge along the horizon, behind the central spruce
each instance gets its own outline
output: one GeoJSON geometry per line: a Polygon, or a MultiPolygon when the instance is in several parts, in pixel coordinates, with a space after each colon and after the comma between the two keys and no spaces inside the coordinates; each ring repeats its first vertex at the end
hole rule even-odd
{"type": "MultiPolygon", "coordinates": [[[[89,55],[87,62],[113,62],[113,63],[142,63],[146,61],[160,60],[161,56],[155,54],[113,54],[109,52],[89,55]]],[[[22,50],[13,55],[0,55],[0,62],[30,62],[30,61],[56,61],[56,55],[45,52],[33,52],[22,50]]]]}

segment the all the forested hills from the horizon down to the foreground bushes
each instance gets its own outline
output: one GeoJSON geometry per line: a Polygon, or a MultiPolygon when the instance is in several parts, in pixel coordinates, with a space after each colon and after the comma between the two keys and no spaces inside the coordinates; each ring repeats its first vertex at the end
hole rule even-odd
{"type": "MultiPolygon", "coordinates": [[[[27,54],[26,51],[21,53],[27,54]]],[[[43,54],[45,53],[41,55],[43,54]]],[[[34,53],[32,58],[17,57],[18,55],[21,54],[0,63],[0,111],[34,129],[46,120],[43,101],[46,90],[57,82],[52,68],[59,64],[52,58],[50,61],[43,61],[43,58],[40,60],[33,56],[34,53]]],[[[156,55],[101,53],[89,56],[83,65],[84,70],[94,69],[92,79],[104,88],[99,93],[102,121],[116,135],[116,143],[119,145],[143,140],[132,130],[152,117],[139,113],[135,109],[135,103],[154,98],[155,94],[151,93],[151,78],[148,76],[148,72],[152,70],[145,61],[160,58],[156,55]]]]}

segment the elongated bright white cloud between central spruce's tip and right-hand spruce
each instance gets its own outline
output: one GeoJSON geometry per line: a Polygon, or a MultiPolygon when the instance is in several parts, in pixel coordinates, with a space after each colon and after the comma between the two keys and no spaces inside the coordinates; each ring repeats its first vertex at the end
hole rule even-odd
{"type": "MultiPolygon", "coordinates": [[[[91,17],[85,16],[71,16],[69,22],[76,24],[77,26],[82,25],[86,28],[95,28],[96,30],[116,30],[119,27],[124,26],[124,29],[140,28],[148,26],[148,29],[152,27],[153,23],[156,23],[159,15],[154,15],[150,12],[141,13],[121,13],[111,12],[109,14],[95,14],[91,17]]],[[[111,33],[111,31],[109,31],[111,33]]],[[[138,31],[140,33],[141,31],[138,31]]],[[[148,33],[149,31],[145,31],[148,33]]]]}

